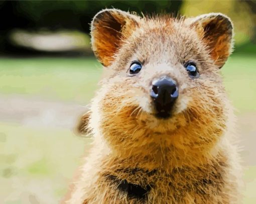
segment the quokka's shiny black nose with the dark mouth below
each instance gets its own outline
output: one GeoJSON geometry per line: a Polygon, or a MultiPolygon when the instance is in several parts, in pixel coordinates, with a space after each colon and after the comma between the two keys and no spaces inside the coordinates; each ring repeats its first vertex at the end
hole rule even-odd
{"type": "Polygon", "coordinates": [[[150,95],[154,100],[157,116],[168,118],[179,95],[177,83],[169,77],[161,77],[152,82],[150,95]]]}

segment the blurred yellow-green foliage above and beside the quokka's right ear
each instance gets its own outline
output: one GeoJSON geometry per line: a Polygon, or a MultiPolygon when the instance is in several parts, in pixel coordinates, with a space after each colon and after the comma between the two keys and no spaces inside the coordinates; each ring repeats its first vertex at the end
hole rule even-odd
{"type": "Polygon", "coordinates": [[[255,1],[184,1],[181,14],[197,16],[220,12],[227,15],[234,24],[234,39],[237,47],[243,44],[250,44],[253,35],[255,35],[255,32],[253,32],[253,28],[256,26],[255,15],[253,16],[250,9],[252,5],[255,6],[255,1]]]}

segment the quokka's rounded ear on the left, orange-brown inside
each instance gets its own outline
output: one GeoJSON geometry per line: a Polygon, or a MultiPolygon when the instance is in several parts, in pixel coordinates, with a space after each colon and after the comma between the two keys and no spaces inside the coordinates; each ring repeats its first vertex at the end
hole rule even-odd
{"type": "Polygon", "coordinates": [[[92,50],[103,66],[111,64],[122,40],[132,34],[139,19],[117,9],[105,9],[94,16],[91,23],[92,50]]]}

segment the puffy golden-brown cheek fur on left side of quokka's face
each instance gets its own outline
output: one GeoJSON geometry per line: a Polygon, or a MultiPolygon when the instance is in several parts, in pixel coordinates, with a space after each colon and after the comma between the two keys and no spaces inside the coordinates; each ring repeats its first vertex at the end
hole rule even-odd
{"type": "Polygon", "coordinates": [[[108,145],[117,152],[126,150],[135,153],[141,146],[154,142],[145,128],[147,114],[137,99],[142,94],[142,90],[134,88],[132,82],[126,80],[108,87],[105,96],[98,101],[100,129],[108,145]]]}

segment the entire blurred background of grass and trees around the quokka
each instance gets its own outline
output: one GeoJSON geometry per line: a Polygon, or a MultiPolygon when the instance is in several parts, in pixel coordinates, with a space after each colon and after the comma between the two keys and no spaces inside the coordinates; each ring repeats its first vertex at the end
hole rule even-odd
{"type": "Polygon", "coordinates": [[[74,133],[101,66],[89,23],[101,9],[197,16],[234,23],[235,50],[222,74],[236,108],[243,203],[256,203],[255,1],[2,1],[0,17],[0,202],[58,203],[91,139],[74,133]],[[6,21],[5,21],[6,20],[6,21]]]}

